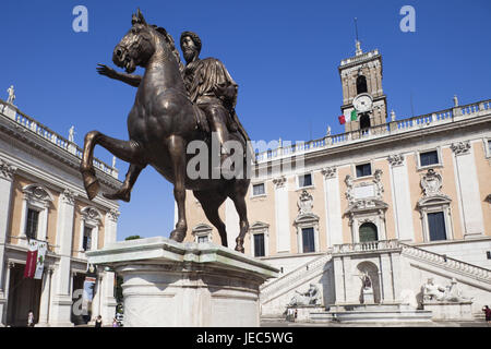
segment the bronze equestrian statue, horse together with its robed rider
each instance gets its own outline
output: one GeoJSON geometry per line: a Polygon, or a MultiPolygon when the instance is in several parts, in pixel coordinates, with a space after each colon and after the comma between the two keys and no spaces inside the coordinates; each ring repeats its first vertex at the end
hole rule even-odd
{"type": "MultiPolygon", "coordinates": [[[[99,184],[93,167],[94,147],[99,144],[123,161],[130,163],[125,180],[116,193],[104,193],[108,198],[130,201],[131,189],[140,172],[153,166],[173,183],[178,206],[178,221],[170,239],[182,242],[188,230],[185,219],[185,190],[192,190],[201,203],[208,220],[218,229],[221,244],[228,246],[226,227],[218,208],[230,197],[239,215],[240,232],[236,250],[243,253],[243,240],[249,230],[246,194],[250,184],[248,176],[231,179],[191,179],[187,173],[188,144],[202,140],[211,144],[211,131],[219,143],[219,158],[230,155],[227,141],[238,142],[244,152],[250,152],[249,136],[235,113],[237,84],[225,67],[216,59],[199,59],[201,40],[191,32],[181,35],[181,48],[187,67],[181,63],[172,37],[161,27],[146,23],[140,10],[132,16],[132,27],[116,46],[112,61],[124,68],[128,74],[117,73],[99,64],[103,75],[137,86],[134,105],[128,116],[130,141],[109,137],[98,131],[85,135],[81,172],[89,200],[99,184]],[[143,76],[131,75],[136,65],[145,69],[143,76]],[[223,68],[223,70],[220,70],[223,68]],[[209,71],[211,70],[211,71],[209,71]],[[208,74],[208,79],[204,76],[208,74]],[[211,76],[211,77],[209,77],[211,76]],[[212,82],[212,84],[209,84],[212,82]],[[213,93],[213,94],[212,94],[213,93]]],[[[208,146],[209,156],[212,146],[208,146]]],[[[248,168],[250,158],[243,156],[242,168],[248,168]]],[[[209,164],[208,174],[215,168],[209,164]]],[[[220,163],[221,164],[221,163],[220,163]]]]}

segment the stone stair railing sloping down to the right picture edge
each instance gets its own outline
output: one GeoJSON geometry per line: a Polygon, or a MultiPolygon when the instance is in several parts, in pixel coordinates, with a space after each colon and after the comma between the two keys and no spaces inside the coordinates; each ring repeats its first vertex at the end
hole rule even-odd
{"type": "Polygon", "coordinates": [[[415,248],[405,243],[399,242],[399,245],[403,248],[403,254],[416,257],[418,260],[422,260],[424,262],[429,262],[442,267],[446,267],[448,269],[453,269],[455,272],[459,272],[462,274],[466,274],[470,277],[478,278],[486,282],[491,284],[491,270],[469,264],[466,262],[462,262],[458,260],[451,258],[443,254],[438,254],[434,252],[430,252],[427,250],[422,250],[419,248],[415,248]]]}

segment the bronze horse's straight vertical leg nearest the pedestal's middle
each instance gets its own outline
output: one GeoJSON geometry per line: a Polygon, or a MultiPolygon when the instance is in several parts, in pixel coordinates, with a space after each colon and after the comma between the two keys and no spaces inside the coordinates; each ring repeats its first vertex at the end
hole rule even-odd
{"type": "Polygon", "coordinates": [[[170,239],[182,242],[188,230],[185,220],[185,142],[182,137],[171,135],[167,140],[170,160],[173,169],[173,197],[178,206],[178,221],[176,229],[170,233],[170,239]]]}

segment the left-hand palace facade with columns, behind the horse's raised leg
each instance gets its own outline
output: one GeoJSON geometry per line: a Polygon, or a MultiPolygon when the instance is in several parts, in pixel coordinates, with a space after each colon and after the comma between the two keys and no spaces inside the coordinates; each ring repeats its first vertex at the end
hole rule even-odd
{"type": "MultiPolygon", "coordinates": [[[[118,203],[88,201],[79,172],[82,151],[0,100],[0,326],[73,326],[82,322],[85,251],[116,241],[118,203]],[[48,243],[40,279],[24,278],[28,241],[48,243]]],[[[95,159],[103,188],[118,170],[95,159]]],[[[98,270],[92,316],[115,316],[113,273],[98,270]]]]}

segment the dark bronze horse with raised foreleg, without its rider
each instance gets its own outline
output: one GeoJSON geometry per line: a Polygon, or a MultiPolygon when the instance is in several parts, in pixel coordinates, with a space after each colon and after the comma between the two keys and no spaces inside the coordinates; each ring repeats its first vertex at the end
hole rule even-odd
{"type": "MultiPolygon", "coordinates": [[[[188,145],[201,140],[211,144],[209,129],[203,112],[190,100],[180,72],[182,63],[173,39],[161,27],[146,23],[137,10],[132,16],[132,27],[116,46],[112,55],[116,65],[127,73],[144,68],[134,105],[128,116],[129,141],[107,136],[98,131],[85,135],[83,157],[80,166],[85,191],[93,200],[100,190],[93,167],[94,147],[100,145],[112,155],[130,164],[127,178],[116,193],[103,193],[108,198],[130,200],[129,193],[140,172],[147,166],[154,167],[173,184],[173,195],[178,207],[176,228],[170,239],[182,242],[188,225],[185,219],[185,190],[192,190],[207,219],[218,229],[221,244],[228,246],[226,227],[218,215],[219,206],[230,197],[239,215],[240,232],[236,239],[236,251],[244,252],[243,240],[249,230],[246,194],[250,184],[249,176],[200,176],[190,178],[187,165],[193,155],[188,154],[188,145]]],[[[230,141],[239,142],[242,149],[249,149],[247,140],[240,132],[230,132],[230,141]]],[[[213,147],[208,146],[213,156],[213,147]]],[[[219,152],[219,149],[218,149],[219,152]]],[[[218,154],[219,157],[219,154],[218,154]]],[[[247,168],[248,156],[243,156],[247,168]]],[[[207,161],[208,174],[212,163],[207,161]]],[[[202,165],[202,164],[200,164],[202,165]]],[[[194,177],[194,176],[193,176],[194,177]]]]}

